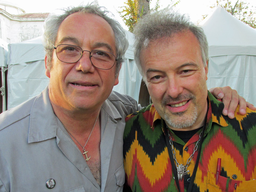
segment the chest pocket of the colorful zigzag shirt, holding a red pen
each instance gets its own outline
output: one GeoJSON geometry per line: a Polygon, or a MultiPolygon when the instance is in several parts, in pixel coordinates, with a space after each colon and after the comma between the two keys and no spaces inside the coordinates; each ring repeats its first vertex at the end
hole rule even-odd
{"type": "Polygon", "coordinates": [[[216,185],[215,175],[215,173],[207,172],[209,192],[256,192],[256,180],[234,180],[219,176],[216,185]]]}

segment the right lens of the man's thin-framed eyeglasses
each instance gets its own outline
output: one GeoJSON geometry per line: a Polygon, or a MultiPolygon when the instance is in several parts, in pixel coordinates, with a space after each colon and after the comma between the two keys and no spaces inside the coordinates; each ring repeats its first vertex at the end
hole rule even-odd
{"type": "Polygon", "coordinates": [[[93,65],[100,69],[110,69],[116,61],[116,57],[112,53],[101,50],[93,50],[90,59],[93,65]]]}

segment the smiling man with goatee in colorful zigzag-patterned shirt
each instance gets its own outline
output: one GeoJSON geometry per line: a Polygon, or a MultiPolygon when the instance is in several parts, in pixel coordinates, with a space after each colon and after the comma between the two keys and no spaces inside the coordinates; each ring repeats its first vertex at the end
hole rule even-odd
{"type": "Polygon", "coordinates": [[[222,115],[207,90],[201,28],[164,9],[134,29],[135,58],[153,104],[126,118],[126,185],[136,192],[256,191],[256,113],[222,115]]]}

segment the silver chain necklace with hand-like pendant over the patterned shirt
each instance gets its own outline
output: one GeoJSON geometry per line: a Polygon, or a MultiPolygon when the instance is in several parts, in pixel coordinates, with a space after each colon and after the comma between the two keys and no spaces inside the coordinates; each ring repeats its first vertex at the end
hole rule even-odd
{"type": "MultiPolygon", "coordinates": [[[[166,125],[167,127],[167,125],[166,125]]],[[[177,162],[177,159],[176,159],[176,152],[174,150],[174,146],[173,146],[173,143],[172,143],[172,136],[170,135],[170,131],[169,131],[169,128],[167,127],[167,130],[168,130],[168,135],[169,135],[169,142],[170,142],[170,145],[172,146],[172,155],[173,155],[173,159],[175,160],[176,162],[176,169],[177,169],[177,175],[178,175],[178,180],[182,180],[183,179],[183,176],[186,175],[187,173],[189,173],[189,170],[187,170],[189,164],[190,164],[190,161],[192,160],[192,158],[194,157],[194,154],[195,154],[195,151],[197,151],[198,149],[198,144],[201,140],[201,134],[203,131],[201,131],[201,133],[199,134],[199,140],[197,141],[197,143],[195,144],[195,147],[194,147],[194,151],[193,153],[190,155],[190,157],[188,158],[187,162],[186,162],[186,165],[183,166],[182,164],[179,164],[177,162]]]]}

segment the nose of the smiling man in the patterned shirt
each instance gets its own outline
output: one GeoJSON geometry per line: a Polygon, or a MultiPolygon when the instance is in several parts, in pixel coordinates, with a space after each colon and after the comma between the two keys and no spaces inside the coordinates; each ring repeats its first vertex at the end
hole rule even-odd
{"type": "Polygon", "coordinates": [[[167,94],[172,98],[176,98],[180,93],[183,92],[183,85],[180,79],[173,77],[169,79],[167,85],[167,94]]]}

